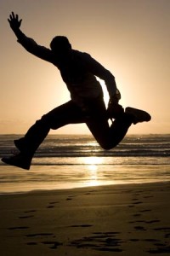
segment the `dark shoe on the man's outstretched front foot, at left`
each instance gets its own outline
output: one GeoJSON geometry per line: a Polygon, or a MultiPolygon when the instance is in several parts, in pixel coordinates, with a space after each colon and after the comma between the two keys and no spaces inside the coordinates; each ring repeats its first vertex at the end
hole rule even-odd
{"type": "Polygon", "coordinates": [[[26,155],[23,154],[16,154],[11,157],[3,157],[2,161],[3,163],[10,166],[20,167],[25,170],[30,170],[31,166],[31,158],[28,158],[26,155]]]}

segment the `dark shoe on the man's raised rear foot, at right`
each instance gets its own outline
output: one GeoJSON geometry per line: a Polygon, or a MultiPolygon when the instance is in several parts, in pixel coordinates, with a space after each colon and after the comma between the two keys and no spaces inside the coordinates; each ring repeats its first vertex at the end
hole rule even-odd
{"type": "Polygon", "coordinates": [[[151,119],[151,116],[149,113],[137,108],[127,107],[125,109],[125,113],[128,113],[133,117],[133,125],[136,125],[137,123],[142,123],[142,122],[149,122],[151,119]]]}

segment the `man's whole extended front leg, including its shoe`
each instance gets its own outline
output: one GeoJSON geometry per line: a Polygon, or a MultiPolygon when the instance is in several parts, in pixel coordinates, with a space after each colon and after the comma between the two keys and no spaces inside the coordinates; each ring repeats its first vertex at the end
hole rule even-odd
{"type": "Polygon", "coordinates": [[[42,119],[37,120],[26,132],[25,137],[14,141],[15,146],[20,150],[20,154],[2,160],[9,165],[29,170],[34,153],[44,138],[47,137],[50,129],[56,130],[64,125],[82,122],[84,122],[84,118],[81,109],[71,101],[66,102],[43,115],[42,119]]]}

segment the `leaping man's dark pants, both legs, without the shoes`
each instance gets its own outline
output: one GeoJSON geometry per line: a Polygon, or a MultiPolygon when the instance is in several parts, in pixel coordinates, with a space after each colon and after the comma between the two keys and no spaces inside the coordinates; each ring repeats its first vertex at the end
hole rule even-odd
{"type": "Polygon", "coordinates": [[[111,126],[108,123],[105,102],[103,97],[88,100],[86,111],[79,108],[74,102],[66,102],[49,113],[31,126],[25,137],[20,138],[21,152],[31,157],[39,145],[47,137],[50,129],[59,129],[64,125],[86,123],[96,141],[104,149],[116,147],[125,137],[127,130],[132,125],[132,120],[127,113],[123,113],[119,119],[115,119],[111,126]]]}

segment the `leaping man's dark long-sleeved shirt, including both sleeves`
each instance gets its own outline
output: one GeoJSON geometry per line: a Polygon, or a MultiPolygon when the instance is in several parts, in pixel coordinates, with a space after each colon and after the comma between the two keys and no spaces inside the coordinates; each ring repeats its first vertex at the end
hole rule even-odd
{"type": "Polygon", "coordinates": [[[71,49],[71,55],[64,61],[59,61],[53,50],[38,45],[32,38],[27,38],[20,32],[18,42],[31,54],[44,61],[54,64],[59,69],[62,79],[71,93],[71,99],[82,105],[84,98],[96,98],[103,94],[101,85],[96,79],[105,80],[105,85],[110,96],[116,94],[116,82],[110,71],[105,69],[91,55],[71,49]]]}

